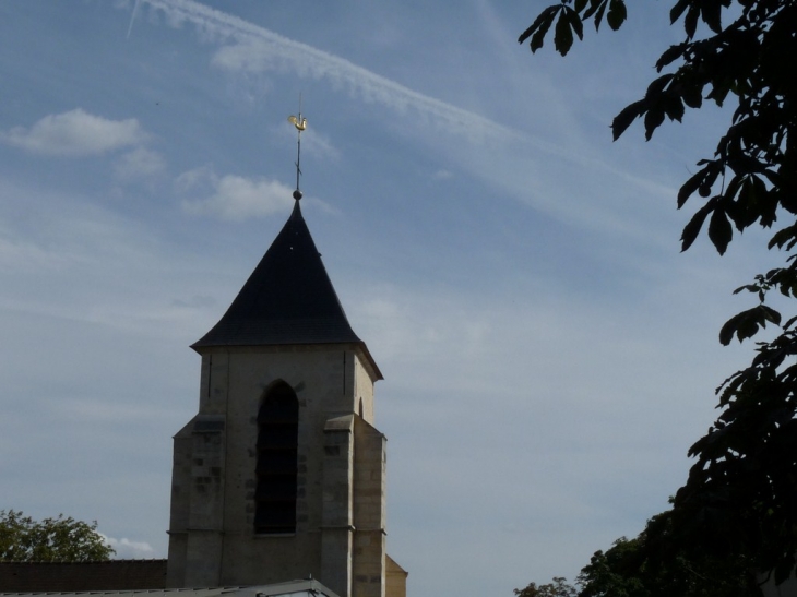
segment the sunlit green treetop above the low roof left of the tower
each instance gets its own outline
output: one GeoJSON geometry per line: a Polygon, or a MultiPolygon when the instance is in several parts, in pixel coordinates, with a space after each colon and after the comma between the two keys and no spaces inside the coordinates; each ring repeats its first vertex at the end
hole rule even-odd
{"type": "Polygon", "coordinates": [[[0,510],[0,560],[88,562],[109,560],[114,548],[87,524],[59,514],[36,522],[15,510],[0,510]]]}

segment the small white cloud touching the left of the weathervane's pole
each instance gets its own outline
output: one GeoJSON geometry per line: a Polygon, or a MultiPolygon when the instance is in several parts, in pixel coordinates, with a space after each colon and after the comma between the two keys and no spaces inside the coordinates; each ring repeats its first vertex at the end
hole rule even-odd
{"type": "Polygon", "coordinates": [[[293,203],[293,189],[277,180],[235,175],[219,178],[209,166],[181,174],[176,187],[182,192],[210,188],[211,194],[205,199],[185,200],[183,210],[193,215],[215,215],[230,220],[286,212],[293,203]]]}

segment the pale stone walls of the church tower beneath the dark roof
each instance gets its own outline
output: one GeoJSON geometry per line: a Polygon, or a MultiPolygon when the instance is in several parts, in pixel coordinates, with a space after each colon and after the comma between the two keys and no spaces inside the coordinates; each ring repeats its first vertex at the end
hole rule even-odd
{"type": "MultiPolygon", "coordinates": [[[[368,493],[360,498],[360,508],[378,513],[362,518],[368,521],[364,528],[382,528],[380,538],[368,538],[369,546],[381,545],[384,552],[384,525],[373,522],[373,516],[384,517],[384,495],[374,494],[380,487],[383,491],[383,480],[373,478],[384,474],[384,438],[360,420],[361,438],[347,431],[349,439],[330,444],[325,428],[330,419],[360,409],[362,419],[373,420],[376,375],[367,359],[356,345],[210,348],[203,349],[201,380],[199,415],[175,437],[169,586],[267,584],[312,575],[341,595],[350,595],[349,560],[357,549],[352,530],[345,530],[356,517],[348,512],[355,508],[352,482],[368,493]],[[260,401],[278,381],[294,390],[299,403],[296,533],[255,535],[257,414],[260,401]],[[348,445],[358,441],[362,446],[348,445]],[[341,449],[340,458],[330,458],[331,447],[341,449]],[[366,456],[371,449],[378,453],[373,458],[366,456]],[[369,470],[355,478],[360,466],[369,470]],[[343,488],[342,475],[352,479],[345,481],[348,489],[343,488]],[[337,489],[330,493],[332,486],[337,489]],[[340,504],[333,506],[330,499],[340,504]],[[337,510],[343,514],[332,515],[337,510]],[[325,520],[334,520],[334,525],[325,520]],[[331,526],[342,530],[333,534],[331,526]],[[341,554],[332,558],[336,549],[341,554]],[[324,577],[333,569],[334,582],[324,577]]],[[[367,568],[368,583],[380,576],[377,584],[383,586],[383,563],[381,572],[373,562],[367,568]]]]}

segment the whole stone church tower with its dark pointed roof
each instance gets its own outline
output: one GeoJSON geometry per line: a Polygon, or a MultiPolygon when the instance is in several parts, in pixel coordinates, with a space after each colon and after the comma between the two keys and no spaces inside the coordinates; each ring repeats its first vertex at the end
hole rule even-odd
{"type": "Polygon", "coordinates": [[[202,357],[175,435],[168,586],[312,575],[341,597],[403,597],[385,554],[382,379],[352,330],[299,201],[202,357]]]}

